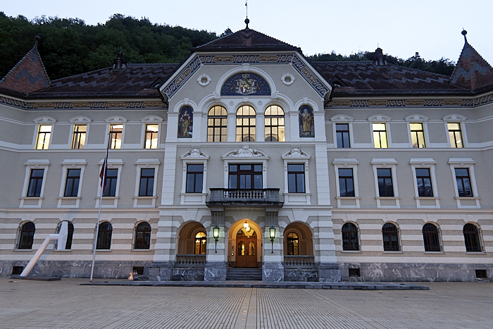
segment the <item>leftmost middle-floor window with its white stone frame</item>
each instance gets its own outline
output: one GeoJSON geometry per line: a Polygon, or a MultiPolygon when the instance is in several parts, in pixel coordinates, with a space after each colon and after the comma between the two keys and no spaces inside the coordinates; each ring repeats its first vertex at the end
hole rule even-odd
{"type": "Polygon", "coordinates": [[[25,164],[23,192],[20,197],[20,208],[40,208],[44,199],[44,186],[49,160],[31,159],[25,164]]]}

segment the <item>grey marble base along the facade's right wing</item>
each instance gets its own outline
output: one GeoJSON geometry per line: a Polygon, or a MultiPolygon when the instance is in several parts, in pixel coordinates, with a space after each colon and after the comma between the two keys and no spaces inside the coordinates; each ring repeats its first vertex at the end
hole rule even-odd
{"type": "MultiPolygon", "coordinates": [[[[493,281],[493,264],[340,263],[343,281],[365,282],[475,282],[493,281]],[[349,269],[359,269],[351,276],[349,269]],[[477,272],[476,270],[479,270],[477,272]],[[487,278],[478,278],[484,274],[487,278]],[[356,273],[355,273],[356,272],[356,273]]],[[[357,270],[351,271],[352,275],[357,270]]]]}

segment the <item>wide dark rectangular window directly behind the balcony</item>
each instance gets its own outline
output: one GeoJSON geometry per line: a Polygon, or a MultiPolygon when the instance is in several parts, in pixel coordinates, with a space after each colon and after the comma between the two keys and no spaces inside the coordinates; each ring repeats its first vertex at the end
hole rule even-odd
{"type": "Polygon", "coordinates": [[[230,165],[229,187],[232,190],[261,190],[262,165],[237,164],[230,165]]]}

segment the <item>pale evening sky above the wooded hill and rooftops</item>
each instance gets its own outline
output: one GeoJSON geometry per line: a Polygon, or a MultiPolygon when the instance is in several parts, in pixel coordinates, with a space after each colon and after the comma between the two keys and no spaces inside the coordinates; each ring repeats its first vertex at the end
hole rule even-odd
{"type": "MultiPolygon", "coordinates": [[[[115,14],[149,18],[152,23],[180,25],[218,35],[245,27],[244,0],[23,0],[4,1],[0,11],[28,19],[46,16],[105,23],[115,14]]],[[[306,56],[375,51],[409,58],[457,61],[468,42],[493,65],[492,0],[249,0],[249,27],[288,44],[306,56]]]]}

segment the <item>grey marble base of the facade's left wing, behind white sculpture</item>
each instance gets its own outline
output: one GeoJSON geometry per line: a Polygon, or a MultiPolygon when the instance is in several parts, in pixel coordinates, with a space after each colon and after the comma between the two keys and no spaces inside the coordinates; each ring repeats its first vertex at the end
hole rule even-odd
{"type": "MultiPolygon", "coordinates": [[[[0,275],[11,275],[14,266],[25,268],[28,261],[0,261],[0,275]]],[[[126,279],[134,268],[143,268],[149,277],[149,261],[96,261],[93,278],[126,279]]],[[[92,261],[38,261],[30,276],[56,278],[89,278],[92,261]]]]}

